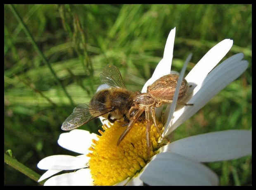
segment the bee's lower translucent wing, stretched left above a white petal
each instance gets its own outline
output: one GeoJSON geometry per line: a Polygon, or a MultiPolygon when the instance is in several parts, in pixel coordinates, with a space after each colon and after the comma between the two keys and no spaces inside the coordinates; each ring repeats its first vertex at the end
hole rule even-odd
{"type": "Polygon", "coordinates": [[[63,122],[62,130],[66,131],[75,129],[81,125],[84,125],[85,123],[88,123],[94,118],[107,114],[110,111],[112,111],[111,108],[106,107],[104,104],[102,104],[100,107],[96,107],[94,105],[89,106],[89,103],[78,105],[73,109],[72,114],[63,122]]]}

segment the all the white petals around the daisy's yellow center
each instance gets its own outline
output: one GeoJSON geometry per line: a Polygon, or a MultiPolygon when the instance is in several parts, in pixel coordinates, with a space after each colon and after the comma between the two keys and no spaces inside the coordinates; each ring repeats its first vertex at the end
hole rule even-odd
{"type": "MultiPolygon", "coordinates": [[[[168,36],[163,59],[157,65],[151,79],[145,83],[142,92],[146,92],[147,86],[161,76],[170,73],[174,38],[175,28],[168,36]]],[[[218,43],[185,77],[192,87],[184,102],[194,105],[184,106],[175,111],[177,100],[173,100],[173,104],[168,106],[164,113],[166,121],[164,136],[168,136],[246,70],[248,62],[242,60],[242,53],[228,58],[214,68],[230,50],[232,43],[230,39],[218,43]]],[[[185,72],[184,68],[180,73],[181,78],[185,72]]],[[[158,109],[158,113],[161,113],[161,109],[158,109]]],[[[91,152],[88,148],[91,146],[92,139],[97,140],[98,136],[85,130],[76,129],[61,134],[58,144],[81,155],[77,157],[53,155],[44,158],[38,163],[38,167],[47,169],[47,171],[39,181],[62,170],[76,169],[75,172],[49,178],[45,185],[93,185],[88,168],[90,158],[86,156],[91,152]]],[[[128,177],[116,185],[143,185],[143,182],[148,185],[218,185],[218,176],[201,162],[231,160],[249,155],[252,149],[251,139],[250,130],[227,130],[174,141],[159,148],[158,153],[152,157],[139,174],[128,177]]]]}

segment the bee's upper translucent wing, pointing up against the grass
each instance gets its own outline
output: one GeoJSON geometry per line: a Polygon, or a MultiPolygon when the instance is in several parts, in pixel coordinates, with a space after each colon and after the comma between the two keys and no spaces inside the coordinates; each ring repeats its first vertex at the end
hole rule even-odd
{"type": "Polygon", "coordinates": [[[126,88],[118,68],[114,65],[108,64],[104,68],[102,73],[100,73],[100,81],[108,84],[111,87],[126,88]]]}

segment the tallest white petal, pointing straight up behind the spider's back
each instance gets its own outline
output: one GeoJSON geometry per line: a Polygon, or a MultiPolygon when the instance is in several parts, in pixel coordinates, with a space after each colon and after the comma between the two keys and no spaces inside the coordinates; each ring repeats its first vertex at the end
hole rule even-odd
{"type": "Polygon", "coordinates": [[[156,69],[155,69],[154,73],[152,74],[152,77],[143,86],[143,88],[141,90],[142,93],[146,93],[147,86],[154,83],[154,81],[159,79],[161,76],[170,74],[171,63],[173,60],[173,46],[174,46],[174,39],[175,39],[175,31],[176,31],[176,28],[173,28],[171,30],[171,32],[169,33],[167,41],[166,41],[166,45],[164,48],[163,59],[156,66],[156,69]]]}

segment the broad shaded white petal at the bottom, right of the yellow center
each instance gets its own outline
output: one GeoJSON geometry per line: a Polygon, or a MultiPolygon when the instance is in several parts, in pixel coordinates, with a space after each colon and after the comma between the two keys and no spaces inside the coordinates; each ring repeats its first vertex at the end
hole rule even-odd
{"type": "Polygon", "coordinates": [[[174,153],[154,156],[140,179],[148,185],[218,185],[218,176],[209,168],[174,153]]]}

